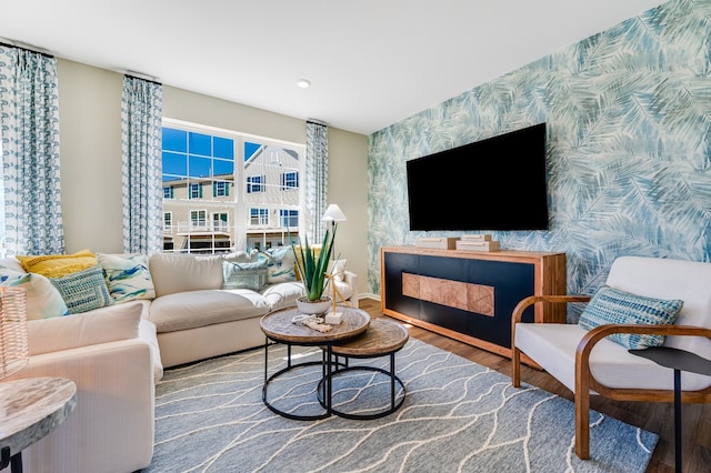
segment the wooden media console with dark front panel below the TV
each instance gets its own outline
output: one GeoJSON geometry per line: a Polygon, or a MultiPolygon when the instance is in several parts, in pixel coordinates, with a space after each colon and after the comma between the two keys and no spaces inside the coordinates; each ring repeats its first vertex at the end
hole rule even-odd
{"type": "MultiPolygon", "coordinates": [[[[383,246],[380,258],[384,314],[504,356],[515,304],[565,293],[564,253],[383,246]]],[[[538,303],[524,320],[563,323],[565,306],[538,303]]]]}

